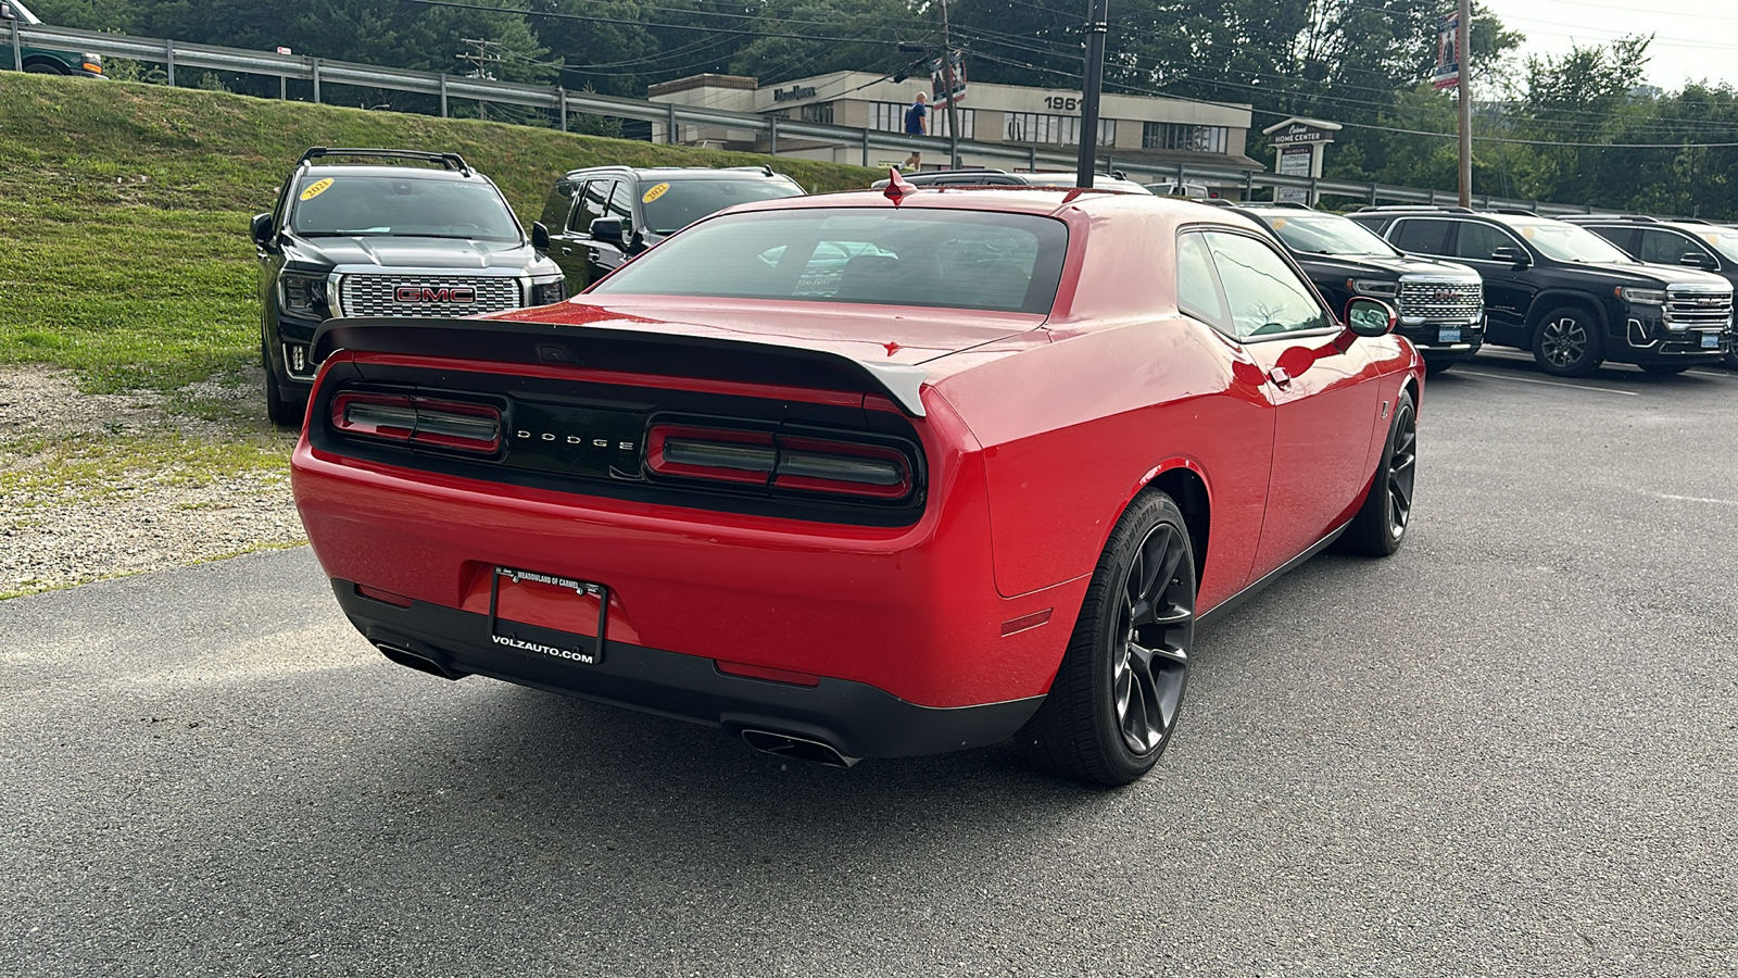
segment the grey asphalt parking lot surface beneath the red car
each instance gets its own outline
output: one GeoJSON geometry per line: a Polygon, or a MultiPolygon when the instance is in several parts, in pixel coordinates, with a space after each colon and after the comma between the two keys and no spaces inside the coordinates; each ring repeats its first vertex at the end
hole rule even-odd
{"type": "Polygon", "coordinates": [[[1731,975],[1738,374],[1434,378],[1413,536],[1121,792],[393,667],[306,548],[0,602],[0,973],[1731,975]]]}

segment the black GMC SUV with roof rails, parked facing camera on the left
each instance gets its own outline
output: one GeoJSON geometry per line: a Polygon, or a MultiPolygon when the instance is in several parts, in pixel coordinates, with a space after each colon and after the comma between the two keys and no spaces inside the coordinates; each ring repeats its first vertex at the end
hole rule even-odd
{"type": "Polygon", "coordinates": [[[318,369],[308,345],[327,318],[476,315],[567,298],[542,224],[527,237],[495,184],[457,153],[315,146],[252,231],[275,425],[302,419],[318,369]]]}

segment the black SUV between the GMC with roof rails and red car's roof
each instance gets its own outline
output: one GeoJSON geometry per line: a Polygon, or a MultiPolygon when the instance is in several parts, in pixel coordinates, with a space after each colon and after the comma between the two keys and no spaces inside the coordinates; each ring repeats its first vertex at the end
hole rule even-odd
{"type": "Polygon", "coordinates": [[[587,167],[554,181],[542,223],[551,256],[574,291],[681,228],[749,200],[801,197],[791,178],[766,167],[587,167]]]}

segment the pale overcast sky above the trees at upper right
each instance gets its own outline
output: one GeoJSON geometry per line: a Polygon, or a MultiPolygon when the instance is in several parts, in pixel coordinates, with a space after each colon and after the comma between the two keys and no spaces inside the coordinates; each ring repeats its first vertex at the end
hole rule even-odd
{"type": "MultiPolygon", "coordinates": [[[[1526,35],[1522,54],[1564,54],[1571,45],[1653,33],[1648,82],[1681,89],[1689,80],[1738,87],[1738,3],[1708,0],[1484,0],[1526,35]]],[[[1446,3],[1444,3],[1446,7],[1446,3]]]]}

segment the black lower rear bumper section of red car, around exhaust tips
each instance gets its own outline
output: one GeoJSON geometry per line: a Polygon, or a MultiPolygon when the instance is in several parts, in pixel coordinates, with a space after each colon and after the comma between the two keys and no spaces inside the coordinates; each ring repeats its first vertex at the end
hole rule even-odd
{"type": "MultiPolygon", "coordinates": [[[[487,675],[601,703],[720,726],[817,740],[846,757],[905,757],[998,743],[1012,736],[1043,696],[977,707],[919,707],[864,682],[819,677],[813,686],[730,675],[714,660],[607,640],[600,661],[579,663],[495,642],[488,614],[428,602],[398,607],[332,590],[351,623],[401,665],[424,660],[450,677],[487,675]],[[408,660],[410,653],[415,660],[408,660]]],[[[495,628],[499,633],[501,628],[495,628]]],[[[560,639],[554,639],[560,640],[560,639]]],[[[594,649],[591,637],[574,646],[594,649]]]]}

